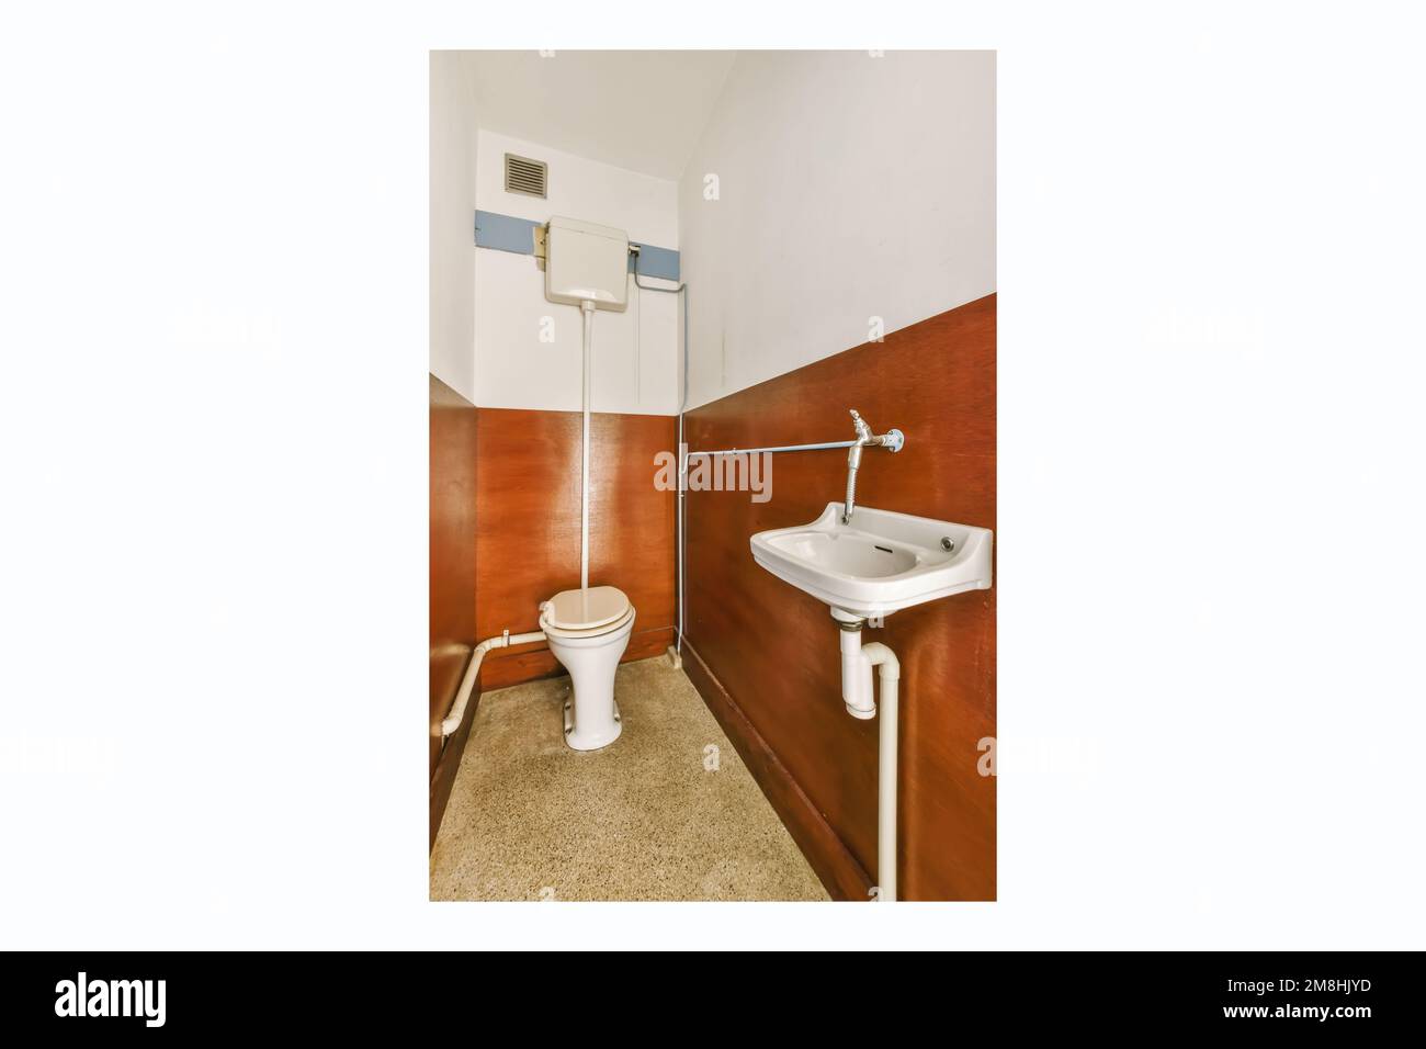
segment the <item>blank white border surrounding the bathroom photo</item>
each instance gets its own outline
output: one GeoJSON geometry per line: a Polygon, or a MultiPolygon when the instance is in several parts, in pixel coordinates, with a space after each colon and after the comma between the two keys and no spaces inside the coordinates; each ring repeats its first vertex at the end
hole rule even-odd
{"type": "Polygon", "coordinates": [[[931,10],[6,10],[4,946],[1422,945],[1420,26],[931,10]],[[1001,899],[428,903],[426,51],[752,43],[1000,53],[1001,899]]]}

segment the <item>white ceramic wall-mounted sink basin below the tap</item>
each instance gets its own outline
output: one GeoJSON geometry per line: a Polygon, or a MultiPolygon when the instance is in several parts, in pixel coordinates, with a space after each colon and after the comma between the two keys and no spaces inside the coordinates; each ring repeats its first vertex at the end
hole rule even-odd
{"type": "Polygon", "coordinates": [[[779,579],[857,617],[990,589],[991,531],[928,517],[857,507],[844,525],[841,504],[829,502],[811,524],[757,532],[749,544],[779,579]]]}

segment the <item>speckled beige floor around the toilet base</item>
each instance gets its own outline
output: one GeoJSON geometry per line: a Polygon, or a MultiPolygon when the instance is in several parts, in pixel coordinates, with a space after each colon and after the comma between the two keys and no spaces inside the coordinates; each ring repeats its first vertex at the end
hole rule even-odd
{"type": "Polygon", "coordinates": [[[603,751],[565,746],[568,692],[481,696],[431,899],[827,899],[683,671],[620,667],[625,729],[603,751]]]}

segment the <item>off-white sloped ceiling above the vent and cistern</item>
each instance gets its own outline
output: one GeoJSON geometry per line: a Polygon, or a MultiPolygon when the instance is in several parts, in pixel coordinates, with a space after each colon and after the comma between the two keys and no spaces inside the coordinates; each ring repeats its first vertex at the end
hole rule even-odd
{"type": "Polygon", "coordinates": [[[736,51],[463,51],[481,127],[677,178],[736,51]]]}

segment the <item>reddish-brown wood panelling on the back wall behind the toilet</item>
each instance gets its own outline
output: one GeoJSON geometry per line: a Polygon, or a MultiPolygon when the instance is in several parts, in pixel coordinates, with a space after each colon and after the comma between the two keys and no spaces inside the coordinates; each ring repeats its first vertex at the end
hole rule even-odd
{"type": "MultiPolygon", "coordinates": [[[[580,428],[578,411],[481,408],[481,638],[539,629],[539,604],[579,587],[580,428]]],[[[655,488],[655,455],[674,450],[677,420],[596,412],[590,434],[589,584],[629,595],[623,658],[645,659],[673,644],[676,494],[655,488]]],[[[519,645],[485,658],[481,686],[560,672],[545,642],[519,645]]]]}

